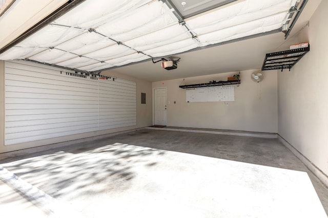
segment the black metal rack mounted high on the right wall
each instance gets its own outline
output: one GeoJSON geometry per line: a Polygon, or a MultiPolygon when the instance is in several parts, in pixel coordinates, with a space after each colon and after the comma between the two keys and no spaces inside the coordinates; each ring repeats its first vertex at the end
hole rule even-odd
{"type": "Polygon", "coordinates": [[[262,65],[262,70],[291,70],[291,68],[309,51],[310,45],[308,47],[302,47],[301,49],[292,49],[266,54],[262,65]]]}

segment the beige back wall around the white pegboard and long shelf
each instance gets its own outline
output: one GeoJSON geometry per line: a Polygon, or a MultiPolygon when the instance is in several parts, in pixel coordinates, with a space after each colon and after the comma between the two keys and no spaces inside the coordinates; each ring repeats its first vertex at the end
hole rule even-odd
{"type": "MultiPolygon", "coordinates": [[[[257,69],[258,70],[258,69],[257,69]]],[[[240,72],[235,101],[187,103],[186,90],[179,85],[227,80],[236,72],[153,82],[153,88],[167,87],[167,125],[254,132],[277,132],[277,71],[265,71],[260,83],[251,80],[256,70],[240,72]],[[174,104],[176,101],[176,104],[174,104]]]]}

